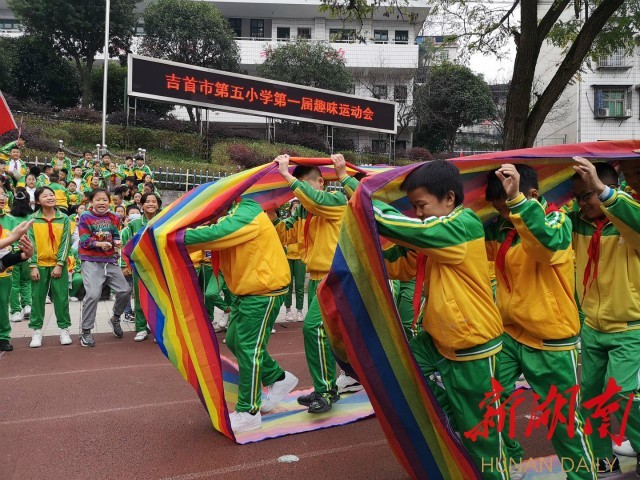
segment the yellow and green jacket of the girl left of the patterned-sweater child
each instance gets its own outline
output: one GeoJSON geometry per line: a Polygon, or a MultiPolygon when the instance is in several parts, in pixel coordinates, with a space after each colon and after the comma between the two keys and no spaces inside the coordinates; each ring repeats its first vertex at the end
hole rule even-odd
{"type": "Polygon", "coordinates": [[[56,210],[55,217],[47,220],[38,210],[33,215],[29,238],[33,243],[33,255],[29,264],[38,267],[66,265],[69,256],[71,228],[69,217],[56,210]]]}

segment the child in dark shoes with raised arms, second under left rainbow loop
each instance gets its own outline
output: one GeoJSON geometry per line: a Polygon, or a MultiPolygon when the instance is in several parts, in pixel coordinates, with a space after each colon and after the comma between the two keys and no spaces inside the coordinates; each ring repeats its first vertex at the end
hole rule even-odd
{"type": "MultiPolygon", "coordinates": [[[[332,156],[332,159],[334,157],[336,156],[332,156]]],[[[280,174],[289,182],[289,187],[308,212],[304,220],[303,258],[309,272],[309,309],[304,319],[302,335],[314,391],[298,397],[298,403],[309,407],[309,413],[324,413],[340,399],[340,395],[336,385],[336,361],[324,331],[316,289],[331,267],[347,198],[342,192],[324,191],[324,179],[318,167],[297,166],[291,175],[288,155],[280,155],[275,161],[280,174]]],[[[281,233],[295,228],[297,223],[282,224],[275,218],[275,214],[273,220],[281,233]]]]}

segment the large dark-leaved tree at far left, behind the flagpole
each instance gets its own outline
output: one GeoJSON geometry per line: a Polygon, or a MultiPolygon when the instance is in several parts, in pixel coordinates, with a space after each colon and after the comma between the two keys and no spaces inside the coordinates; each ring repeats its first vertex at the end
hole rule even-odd
{"type": "MultiPolygon", "coordinates": [[[[82,106],[91,103],[91,71],[104,48],[104,0],[9,0],[9,8],[34,35],[73,60],[81,79],[82,106]]],[[[111,0],[109,54],[128,51],[136,0],[111,0]]]]}

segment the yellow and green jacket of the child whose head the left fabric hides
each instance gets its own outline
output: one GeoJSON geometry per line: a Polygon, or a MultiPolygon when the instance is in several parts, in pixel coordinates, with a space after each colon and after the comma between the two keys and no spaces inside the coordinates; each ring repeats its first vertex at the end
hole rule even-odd
{"type": "Polygon", "coordinates": [[[278,234],[254,200],[242,198],[216,224],[187,230],[184,243],[190,252],[220,251],[220,270],[234,295],[280,295],[291,281],[278,234]]]}

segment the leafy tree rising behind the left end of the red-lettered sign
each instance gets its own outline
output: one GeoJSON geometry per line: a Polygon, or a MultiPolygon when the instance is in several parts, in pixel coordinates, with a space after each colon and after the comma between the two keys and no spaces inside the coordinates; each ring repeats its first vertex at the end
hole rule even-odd
{"type": "MultiPolygon", "coordinates": [[[[240,69],[233,30],[208,2],[158,0],[144,11],[144,29],[146,55],[227,72],[240,69]]],[[[199,121],[199,110],[187,111],[192,122],[199,121]]]]}

